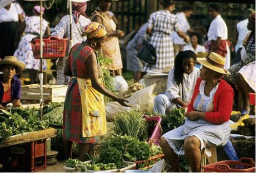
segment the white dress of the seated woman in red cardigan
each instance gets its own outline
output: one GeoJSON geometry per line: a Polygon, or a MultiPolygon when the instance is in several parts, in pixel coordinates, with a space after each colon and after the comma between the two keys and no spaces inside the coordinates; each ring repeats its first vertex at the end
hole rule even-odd
{"type": "MultiPolygon", "coordinates": [[[[211,112],[213,110],[214,95],[219,84],[213,88],[209,96],[204,94],[205,81],[200,83],[199,93],[194,101],[194,109],[201,112],[211,112]]],[[[188,136],[196,136],[201,142],[201,150],[205,143],[210,145],[225,145],[230,135],[230,122],[224,122],[221,125],[214,125],[205,120],[191,121],[185,119],[184,125],[177,129],[163,134],[170,147],[178,155],[184,155],[184,140],[188,136]]]]}

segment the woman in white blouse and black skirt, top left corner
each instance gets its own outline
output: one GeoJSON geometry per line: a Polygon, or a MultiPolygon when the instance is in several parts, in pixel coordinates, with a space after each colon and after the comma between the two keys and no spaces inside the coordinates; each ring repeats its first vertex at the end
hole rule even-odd
{"type": "Polygon", "coordinates": [[[17,45],[19,23],[23,21],[23,9],[17,3],[0,8],[0,59],[12,56],[17,45]]]}

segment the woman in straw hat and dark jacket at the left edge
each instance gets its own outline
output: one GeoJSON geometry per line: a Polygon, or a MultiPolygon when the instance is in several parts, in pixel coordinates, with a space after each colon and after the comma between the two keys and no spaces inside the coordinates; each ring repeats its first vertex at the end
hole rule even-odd
{"type": "Polygon", "coordinates": [[[17,61],[16,57],[5,57],[0,61],[0,109],[8,110],[6,105],[13,104],[13,108],[22,106],[20,104],[20,93],[22,84],[15,76],[16,73],[23,71],[26,64],[17,61]]]}

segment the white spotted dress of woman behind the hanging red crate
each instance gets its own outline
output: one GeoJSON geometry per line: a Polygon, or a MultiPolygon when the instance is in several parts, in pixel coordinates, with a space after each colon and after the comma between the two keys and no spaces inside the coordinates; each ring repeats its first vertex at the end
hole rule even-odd
{"type": "MultiPolygon", "coordinates": [[[[14,56],[26,64],[27,69],[40,70],[40,60],[34,59],[32,52],[31,40],[40,35],[40,17],[31,16],[25,18],[26,28],[25,35],[22,37],[18,44],[18,48],[14,53],[14,56]]],[[[42,19],[42,33],[45,33],[48,26],[48,22],[42,19]]],[[[46,60],[43,61],[43,69],[46,68],[46,60]]]]}

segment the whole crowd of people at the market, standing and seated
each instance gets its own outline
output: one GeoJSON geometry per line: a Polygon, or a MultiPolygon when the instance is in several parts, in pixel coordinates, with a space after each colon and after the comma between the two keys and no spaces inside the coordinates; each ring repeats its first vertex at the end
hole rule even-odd
{"type": "MultiPolygon", "coordinates": [[[[66,58],[56,62],[57,84],[68,85],[63,111],[67,158],[72,157],[72,142],[79,143],[80,159],[84,160],[89,144],[106,134],[103,95],[130,106],[127,100],[104,88],[98,68],[97,58],[103,55],[112,60],[107,67],[111,75],[122,76],[119,38],[124,32],[117,30],[118,21],[109,11],[112,1],[99,0],[90,18],[85,13],[86,2],[72,3],[73,42],[69,15],[61,18],[52,33],[49,23],[45,19],[42,22],[45,35],[68,39],[66,58]]],[[[174,14],[174,1],[162,0],[161,5],[163,8],[152,13],[127,44],[127,69],[134,71],[134,81],[139,82],[147,70],[170,68],[166,92],[156,96],[154,112],[165,114],[167,109],[187,107],[187,118],[184,125],[162,136],[161,147],[173,171],[181,171],[178,155],[185,155],[191,169],[200,171],[201,150],[227,143],[236,91],[243,94],[242,108],[238,108],[241,114],[250,112],[248,93],[255,92],[255,11],[248,9],[245,19],[236,26],[239,58],[230,67],[228,29],[219,4],[208,6],[211,22],[207,29],[202,27],[207,38],[204,45],[198,44],[198,33],[187,20],[193,8],[184,7],[174,14]],[[137,56],[145,42],[155,48],[155,64],[145,63],[137,56]],[[205,58],[197,58],[199,55],[205,58]]],[[[34,80],[40,69],[31,47],[31,41],[40,33],[38,6],[33,8],[33,14],[25,16],[17,3],[0,9],[0,109],[7,109],[9,103],[22,106],[21,83],[15,75],[28,70],[34,80]]]]}

